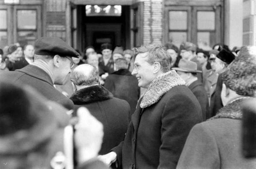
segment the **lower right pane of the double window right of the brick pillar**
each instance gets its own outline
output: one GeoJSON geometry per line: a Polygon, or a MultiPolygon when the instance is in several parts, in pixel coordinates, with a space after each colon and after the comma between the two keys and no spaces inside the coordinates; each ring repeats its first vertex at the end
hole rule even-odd
{"type": "Polygon", "coordinates": [[[214,32],[198,32],[197,33],[197,45],[198,48],[204,50],[211,50],[215,44],[214,32]]]}

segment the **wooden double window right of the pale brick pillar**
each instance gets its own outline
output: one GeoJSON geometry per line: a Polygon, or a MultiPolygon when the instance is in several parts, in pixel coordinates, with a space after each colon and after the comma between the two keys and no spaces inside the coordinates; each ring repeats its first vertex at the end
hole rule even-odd
{"type": "MultiPolygon", "coordinates": [[[[209,3],[209,2],[207,2],[209,3]]],[[[217,6],[176,6],[165,7],[164,42],[172,42],[177,47],[189,41],[199,48],[210,50],[215,43],[221,42],[221,17],[217,6]]]]}

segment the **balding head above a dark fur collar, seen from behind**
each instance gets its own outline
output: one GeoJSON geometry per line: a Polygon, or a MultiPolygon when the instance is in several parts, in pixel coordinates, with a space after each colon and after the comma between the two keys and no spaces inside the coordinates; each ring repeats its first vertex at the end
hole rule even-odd
{"type": "Polygon", "coordinates": [[[82,64],[72,73],[72,80],[77,86],[91,86],[99,84],[99,71],[95,66],[82,64]]]}

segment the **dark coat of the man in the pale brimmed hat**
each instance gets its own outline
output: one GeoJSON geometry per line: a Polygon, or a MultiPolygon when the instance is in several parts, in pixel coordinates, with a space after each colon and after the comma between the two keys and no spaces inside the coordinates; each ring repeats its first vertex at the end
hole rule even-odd
{"type": "Polygon", "coordinates": [[[192,91],[192,93],[196,96],[198,102],[200,103],[202,109],[202,117],[203,121],[210,118],[209,114],[209,102],[208,96],[204,89],[203,84],[200,81],[194,81],[191,83],[188,88],[192,91]]]}

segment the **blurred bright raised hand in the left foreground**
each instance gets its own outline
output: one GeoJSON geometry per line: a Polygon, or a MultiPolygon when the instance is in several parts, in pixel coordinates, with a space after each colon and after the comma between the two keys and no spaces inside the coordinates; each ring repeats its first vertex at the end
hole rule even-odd
{"type": "Polygon", "coordinates": [[[103,125],[85,107],[80,107],[77,110],[77,116],[75,145],[78,162],[83,163],[97,157],[103,139],[103,125]]]}

